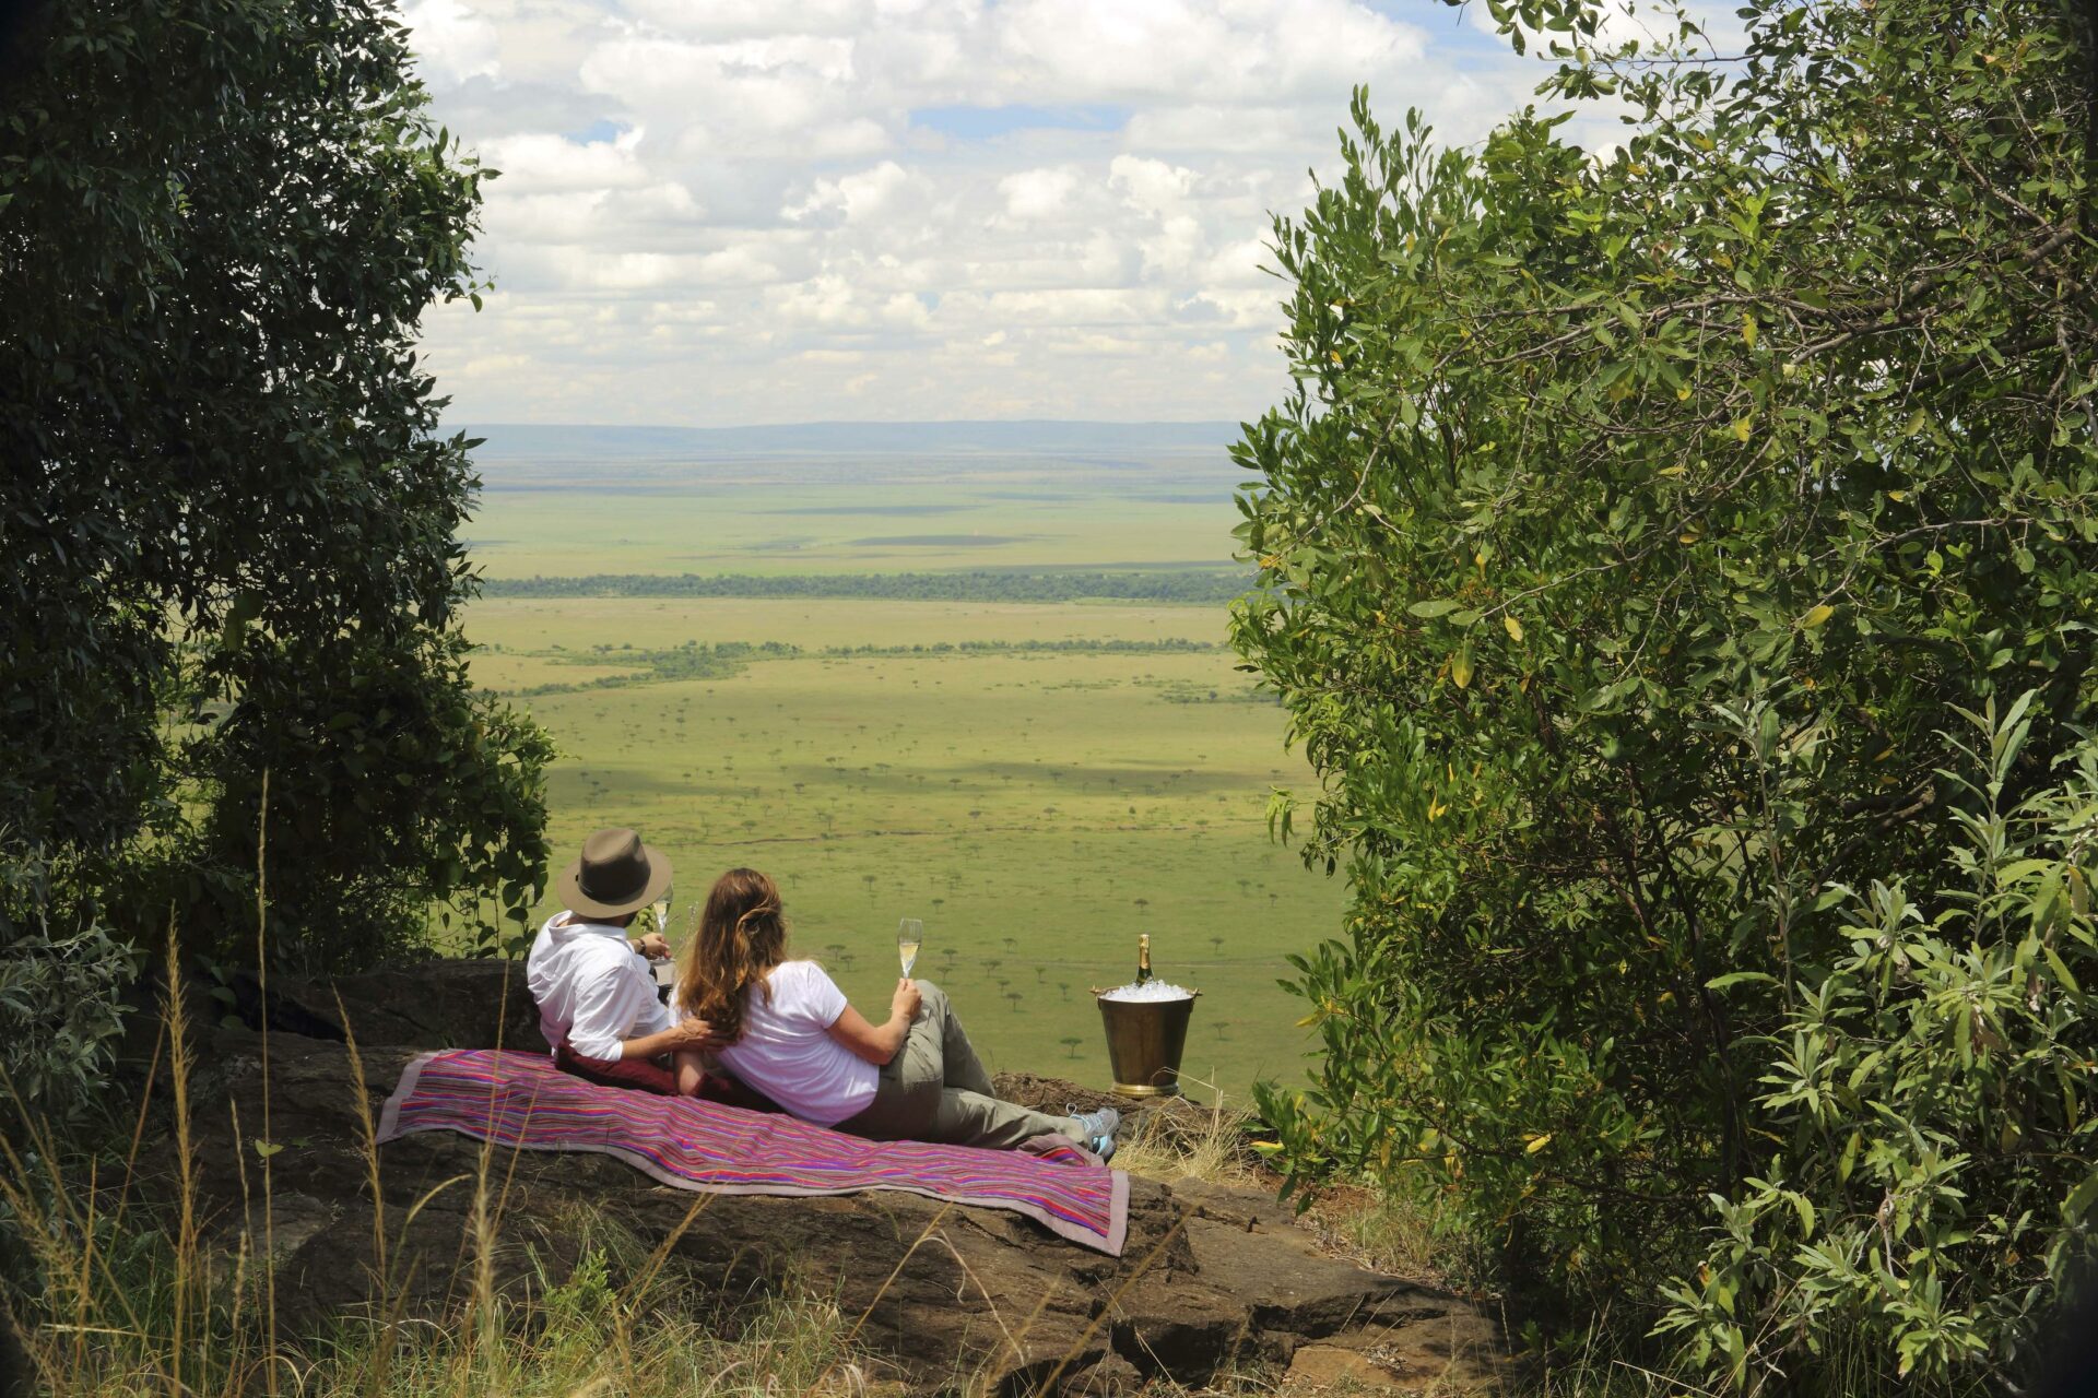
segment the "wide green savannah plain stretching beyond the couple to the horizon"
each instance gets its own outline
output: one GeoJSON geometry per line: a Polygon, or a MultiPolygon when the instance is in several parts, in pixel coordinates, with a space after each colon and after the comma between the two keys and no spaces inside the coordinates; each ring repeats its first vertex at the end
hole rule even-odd
{"type": "Polygon", "coordinates": [[[923,918],[917,973],[955,993],[992,1069],[1101,1086],[1089,991],[1129,981],[1150,933],[1158,975],[1202,991],[1194,1096],[1301,1077],[1303,1002],[1278,979],[1339,931],[1343,884],[1269,840],[1269,792],[1309,769],[1238,671],[1227,608],[1013,602],[997,581],[1244,572],[1221,442],[709,453],[476,434],[474,675],[560,746],[556,859],[592,828],[642,830],[678,870],[673,941],[718,872],[762,868],[797,949],[860,1006],[887,1000],[898,918],[923,918]],[[952,572],[976,595],[646,595],[648,576],[850,593],[952,572]],[[516,595],[590,574],[627,574],[623,595],[516,595]],[[755,652],[699,677],[650,664],[688,643],[755,652]]]}

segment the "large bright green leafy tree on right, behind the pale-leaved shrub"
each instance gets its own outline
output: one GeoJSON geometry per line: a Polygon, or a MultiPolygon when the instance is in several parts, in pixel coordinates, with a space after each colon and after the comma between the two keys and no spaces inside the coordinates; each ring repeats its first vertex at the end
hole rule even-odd
{"type": "MultiPolygon", "coordinates": [[[[1586,4],[1492,8],[1563,59],[1555,96],[1628,111],[1624,140],[1582,151],[1565,111],[1525,111],[1437,149],[1357,94],[1345,174],[1273,231],[1294,390],[1236,449],[1261,587],[1234,639],[1322,778],[1305,855],[1355,897],[1297,962],[1315,1084],[1263,1105],[1292,1178],[1441,1188],[1532,1299],[1651,1323],[1708,1197],[1746,1207],[1819,1159],[1825,1123],[1773,1073],[1829,979],[1867,977],[1867,891],[1907,889],[1947,956],[1981,956],[2008,920],[1941,878],[1945,851],[2069,801],[2050,782],[2092,719],[2098,599],[2098,84],[2083,21],[2039,2],[1758,0],[1727,54],[1689,23],[1609,48],[1586,4]],[[2012,698],[1991,805],[1941,734],[2012,698]]],[[[2073,1090],[1976,1069],[1941,1111],[1960,1149],[2031,1165],[2081,1247],[2098,1023],[2035,956],[2016,975],[2071,1008],[2033,1052],[2073,1090]]],[[[1997,1052],[1962,1014],[1930,1033],[1997,1052]]],[[[1899,1289],[1953,1243],[1892,1165],[1915,1123],[1861,1105],[1892,1100],[1886,1071],[1842,1090],[1884,1146],[1874,1285],[1899,1289]]],[[[1815,1239],[1878,1220],[1844,1188],[1815,1239]]],[[[1909,1344],[1920,1316],[1863,1344],[1949,1385],[2001,1362],[2031,1306],[1985,1293],[2043,1295],[2064,1253],[1995,1247],[1941,1297],[1978,1344],[1909,1344]]],[[[1827,1362],[1798,1297],[1756,1329],[1775,1274],[1708,1297],[1706,1339],[1720,1316],[1741,1335],[1693,1360],[1743,1385],[1827,1362]]]]}

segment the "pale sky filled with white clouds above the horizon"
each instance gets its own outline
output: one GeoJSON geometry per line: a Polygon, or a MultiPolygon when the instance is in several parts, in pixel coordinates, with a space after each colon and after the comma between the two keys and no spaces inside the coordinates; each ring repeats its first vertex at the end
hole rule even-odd
{"type": "Polygon", "coordinates": [[[453,421],[1240,421],[1271,212],[1349,90],[1475,143],[1544,75],[1431,0],[411,0],[501,178],[453,421]]]}

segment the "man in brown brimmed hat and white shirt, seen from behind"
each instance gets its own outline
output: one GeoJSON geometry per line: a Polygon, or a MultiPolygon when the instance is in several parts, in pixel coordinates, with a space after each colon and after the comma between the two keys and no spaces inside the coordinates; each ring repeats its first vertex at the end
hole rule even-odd
{"type": "Polygon", "coordinates": [[[556,889],[566,912],[548,918],[524,958],[554,1063],[611,1088],[676,1096],[671,1050],[718,1040],[705,1021],[673,1025],[657,1000],[646,958],[669,956],[663,935],[627,935],[634,916],[669,893],[669,859],[631,830],[598,830],[556,889]]]}

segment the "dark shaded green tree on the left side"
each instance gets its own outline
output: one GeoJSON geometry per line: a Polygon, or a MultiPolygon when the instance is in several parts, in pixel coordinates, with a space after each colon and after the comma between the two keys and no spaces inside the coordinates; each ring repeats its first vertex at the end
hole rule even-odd
{"type": "MultiPolygon", "coordinates": [[[[0,853],[342,966],[543,878],[543,736],[478,696],[422,312],[489,176],[365,0],[50,4],[0,88],[0,853]],[[52,866],[57,868],[57,864],[52,866]],[[71,864],[67,864],[71,868],[71,864]]],[[[55,891],[57,893],[57,891],[55,891]]],[[[25,926],[29,912],[6,912],[25,926]]]]}

